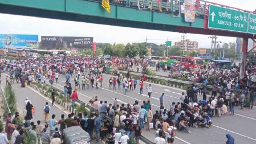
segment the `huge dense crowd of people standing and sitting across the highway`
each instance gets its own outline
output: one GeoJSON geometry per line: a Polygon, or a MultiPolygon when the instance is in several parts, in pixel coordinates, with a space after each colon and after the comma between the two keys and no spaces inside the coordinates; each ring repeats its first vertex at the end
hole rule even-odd
{"type": "MultiPolygon", "coordinates": [[[[59,75],[66,77],[66,86],[64,87],[64,94],[68,99],[71,99],[72,106],[74,108],[75,101],[78,99],[77,90],[82,85],[82,90],[102,87],[103,76],[102,73],[108,73],[109,68],[112,66],[119,67],[138,67],[138,65],[146,65],[147,61],[141,59],[122,59],[115,58],[111,60],[100,59],[99,57],[84,57],[84,56],[72,56],[63,57],[63,59],[56,59],[53,57],[46,58],[32,58],[28,57],[25,60],[1,60],[2,72],[6,72],[10,77],[6,76],[6,83],[12,84],[16,80],[17,83],[21,82],[21,86],[25,87],[32,81],[41,81],[46,83],[46,80],[50,84],[58,83],[59,75]],[[71,77],[74,77],[75,85],[72,89],[70,82],[71,77]],[[95,80],[96,79],[96,80],[95,80]],[[94,83],[94,81],[96,81],[94,83]]],[[[135,90],[136,85],[139,84],[140,94],[143,94],[143,88],[145,76],[141,80],[133,79],[129,73],[124,76],[122,73],[116,72],[117,76],[114,76],[108,80],[109,89],[124,89],[124,94],[127,94],[128,90],[135,90]]],[[[30,122],[32,120],[32,104],[31,101],[27,101],[25,105],[26,117],[25,123],[22,124],[19,114],[15,114],[14,119],[7,122],[6,133],[12,135],[16,130],[19,134],[21,126],[29,127],[30,130],[35,130],[36,134],[31,132],[31,135],[36,135],[35,141],[42,141],[44,143],[51,143],[52,139],[62,139],[61,131],[65,127],[80,125],[86,130],[91,139],[108,139],[111,143],[128,143],[129,141],[135,141],[139,143],[141,136],[141,130],[156,130],[155,143],[173,143],[176,135],[176,130],[187,131],[190,133],[191,127],[207,127],[212,125],[211,118],[214,116],[221,117],[221,115],[227,113],[229,110],[231,114],[234,114],[234,108],[240,104],[241,109],[253,108],[252,104],[255,99],[254,85],[250,83],[250,79],[238,80],[233,75],[227,75],[229,71],[226,69],[209,71],[200,71],[198,73],[190,73],[196,82],[200,82],[200,86],[192,85],[185,93],[181,94],[180,102],[172,102],[170,108],[164,108],[164,93],[159,97],[160,109],[152,112],[150,97],[153,92],[151,85],[147,88],[147,94],[149,100],[144,101],[143,104],[139,104],[139,101],[135,101],[134,104],[118,104],[115,100],[113,104],[108,104],[107,101],[98,100],[94,98],[91,101],[93,112],[78,114],[68,114],[68,118],[56,121],[55,114],[51,114],[51,106],[46,102],[44,106],[44,120],[45,126],[40,126],[40,134],[36,131],[36,127],[40,125],[34,125],[30,122]],[[214,73],[214,74],[210,74],[214,73]],[[217,75],[217,79],[214,80],[212,96],[207,100],[206,85],[208,84],[209,76],[217,75]],[[203,94],[202,100],[199,100],[198,94],[203,94]],[[247,97],[250,95],[250,98],[247,97]],[[50,115],[51,114],[51,115],[50,115]],[[51,118],[50,118],[51,116],[51,118]],[[72,123],[72,125],[71,125],[72,123]],[[55,129],[55,125],[59,124],[60,129],[55,129]],[[48,127],[47,127],[48,126],[48,127]],[[33,128],[34,127],[34,128],[33,128]],[[45,131],[44,131],[45,130],[45,131]],[[55,135],[55,131],[60,131],[59,135],[55,135]],[[95,132],[94,132],[95,131],[95,132]],[[49,133],[49,139],[44,141],[42,138],[43,133],[49,133]],[[95,133],[95,134],[94,134],[95,133]],[[167,134],[167,137],[166,137],[167,134]],[[124,136],[123,136],[124,135],[124,136]],[[126,136],[125,136],[126,135],[126,136]],[[39,138],[40,137],[40,138],[39,138]],[[96,137],[96,138],[95,138],[96,137]]],[[[52,91],[52,106],[54,106],[54,91],[52,91]]],[[[9,116],[10,117],[10,116],[9,116]]],[[[17,134],[17,133],[16,133],[17,134]]],[[[231,138],[231,135],[227,135],[227,138],[231,138]]]]}

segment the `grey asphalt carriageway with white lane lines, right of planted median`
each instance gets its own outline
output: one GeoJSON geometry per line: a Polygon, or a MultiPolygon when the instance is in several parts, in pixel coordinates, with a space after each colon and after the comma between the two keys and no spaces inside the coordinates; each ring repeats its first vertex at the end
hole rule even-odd
{"type": "MultiPolygon", "coordinates": [[[[90,89],[90,90],[78,90],[78,97],[80,100],[88,102],[91,97],[98,96],[99,100],[107,100],[108,104],[113,103],[113,99],[117,98],[123,104],[133,104],[135,100],[139,101],[139,104],[143,104],[143,101],[149,100],[146,95],[147,90],[144,88],[144,94],[139,94],[139,89],[128,92],[127,95],[124,95],[122,89],[112,90],[108,89],[108,80],[110,75],[103,75],[103,87],[100,89],[90,89]]],[[[63,75],[59,76],[59,83],[55,84],[54,87],[62,89],[65,85],[66,79],[63,75]]],[[[74,87],[74,77],[71,77],[72,87],[74,87]]],[[[148,85],[145,83],[144,85],[148,85]]],[[[162,92],[165,93],[164,96],[164,106],[169,109],[170,104],[180,101],[181,92],[184,90],[166,87],[164,85],[152,84],[153,94],[151,96],[152,112],[159,110],[160,101],[159,97],[162,92]]],[[[137,87],[139,88],[139,87],[137,87]]],[[[200,97],[199,97],[200,98],[200,97]]],[[[230,116],[226,114],[220,118],[212,118],[213,125],[210,129],[206,128],[191,128],[191,134],[178,131],[177,138],[175,139],[176,143],[224,143],[226,133],[230,133],[235,138],[236,143],[256,143],[256,133],[253,133],[256,129],[256,112],[251,109],[240,110],[239,107],[235,108],[235,115],[230,116]]],[[[145,132],[146,133],[146,132],[145,132]]],[[[149,139],[154,138],[154,131],[147,133],[145,136],[149,139]],[[150,134],[152,133],[152,135],[150,134]]]]}

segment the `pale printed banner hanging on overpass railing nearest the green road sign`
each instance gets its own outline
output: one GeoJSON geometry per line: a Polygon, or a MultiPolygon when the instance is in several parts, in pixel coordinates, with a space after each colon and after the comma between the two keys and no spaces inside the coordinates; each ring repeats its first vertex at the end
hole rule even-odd
{"type": "Polygon", "coordinates": [[[184,9],[184,18],[185,22],[193,23],[194,22],[194,0],[185,0],[185,9],[184,9]]]}

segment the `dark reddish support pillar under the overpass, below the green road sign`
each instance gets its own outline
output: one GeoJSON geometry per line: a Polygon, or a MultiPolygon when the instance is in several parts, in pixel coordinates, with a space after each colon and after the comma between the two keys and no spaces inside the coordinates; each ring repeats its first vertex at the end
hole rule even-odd
{"type": "Polygon", "coordinates": [[[240,79],[243,79],[243,77],[245,77],[247,47],[248,47],[248,38],[243,38],[243,42],[242,42],[242,62],[241,62],[241,66],[240,66],[240,75],[239,75],[240,79]]]}

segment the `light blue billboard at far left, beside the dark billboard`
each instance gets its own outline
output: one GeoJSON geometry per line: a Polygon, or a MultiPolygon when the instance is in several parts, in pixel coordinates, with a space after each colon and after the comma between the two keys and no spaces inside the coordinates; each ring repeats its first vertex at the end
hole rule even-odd
{"type": "Polygon", "coordinates": [[[38,35],[0,34],[0,48],[38,48],[38,35]]]}

